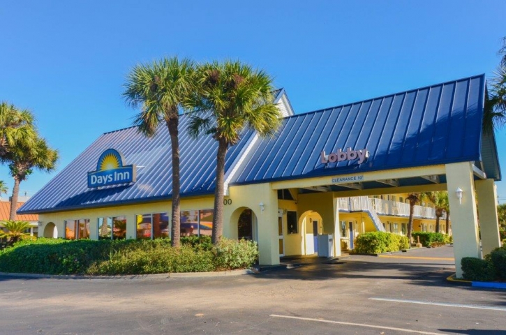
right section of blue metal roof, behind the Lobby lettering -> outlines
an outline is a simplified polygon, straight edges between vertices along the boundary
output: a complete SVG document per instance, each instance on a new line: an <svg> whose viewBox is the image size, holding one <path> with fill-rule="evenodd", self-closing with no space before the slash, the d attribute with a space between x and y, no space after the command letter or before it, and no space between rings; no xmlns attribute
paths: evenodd
<svg viewBox="0 0 506 335"><path fill-rule="evenodd" d="M255 143L235 184L480 161L484 84L477 75L287 117ZM348 147L369 160L320 162Z"/></svg>

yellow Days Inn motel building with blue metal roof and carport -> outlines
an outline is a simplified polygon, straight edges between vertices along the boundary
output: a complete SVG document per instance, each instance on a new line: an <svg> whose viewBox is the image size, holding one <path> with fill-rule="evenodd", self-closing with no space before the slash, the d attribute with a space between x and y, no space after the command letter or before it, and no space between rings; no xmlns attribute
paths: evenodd
<svg viewBox="0 0 506 335"><path fill-rule="evenodd" d="M276 91L276 135L245 129L228 151L224 236L258 241L266 265L320 248L337 256L361 232L403 233L407 193L448 191L456 264L481 257L475 192L483 252L500 243L501 176L495 137L482 132L485 87L476 75L301 114ZM181 232L209 234L217 144L191 139L186 115L179 126ZM165 126L151 139L135 127L105 133L19 213L39 214L45 237L168 237L171 169ZM433 230L430 207L417 211L415 230Z"/></svg>

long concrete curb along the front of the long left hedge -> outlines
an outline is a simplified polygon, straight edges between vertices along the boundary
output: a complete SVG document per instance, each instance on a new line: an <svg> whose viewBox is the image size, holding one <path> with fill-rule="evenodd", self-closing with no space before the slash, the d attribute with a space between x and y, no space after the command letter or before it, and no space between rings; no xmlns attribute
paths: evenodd
<svg viewBox="0 0 506 335"><path fill-rule="evenodd" d="M127 276L74 276L64 274L11 274L0 272L0 276L22 277L22 278L51 278L51 279L116 279L116 280L160 280L169 278L202 278L202 277L223 277L223 276L244 276L246 274L257 274L252 269L239 269L216 272L181 272L174 274L132 274Z"/></svg>

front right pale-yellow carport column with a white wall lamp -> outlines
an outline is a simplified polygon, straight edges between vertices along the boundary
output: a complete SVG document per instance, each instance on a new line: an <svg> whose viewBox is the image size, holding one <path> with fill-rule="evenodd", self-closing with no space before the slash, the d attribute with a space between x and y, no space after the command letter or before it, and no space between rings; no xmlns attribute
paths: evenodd
<svg viewBox="0 0 506 335"><path fill-rule="evenodd" d="M447 191L454 239L455 268L457 278L462 277L461 260L464 257L481 258L479 250L478 219L476 213L475 183L472 163L446 165ZM463 191L462 203L456 197L456 189Z"/></svg>

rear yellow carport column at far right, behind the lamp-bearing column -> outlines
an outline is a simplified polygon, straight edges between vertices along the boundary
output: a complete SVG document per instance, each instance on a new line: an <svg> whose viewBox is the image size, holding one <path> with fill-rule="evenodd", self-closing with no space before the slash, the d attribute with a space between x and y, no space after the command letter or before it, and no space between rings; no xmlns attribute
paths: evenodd
<svg viewBox="0 0 506 335"><path fill-rule="evenodd" d="M479 227L482 232L483 255L487 255L494 248L500 247L496 185L493 184L493 179L486 179L475 181L475 186L478 198Z"/></svg>

